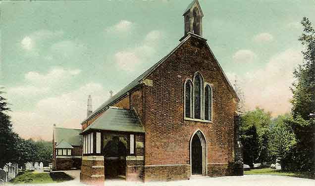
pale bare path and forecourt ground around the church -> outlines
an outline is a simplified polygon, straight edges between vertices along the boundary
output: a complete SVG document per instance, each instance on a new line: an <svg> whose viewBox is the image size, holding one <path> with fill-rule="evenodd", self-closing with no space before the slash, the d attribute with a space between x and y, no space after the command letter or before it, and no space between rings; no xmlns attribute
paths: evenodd
<svg viewBox="0 0 315 186"><path fill-rule="evenodd" d="M79 181L79 171L65 171L76 179L57 184L36 184L33 186L86 186ZM31 186L31 185L23 185ZM286 176L245 175L238 177L193 177L190 180L174 182L136 183L107 180L105 186L315 186L315 180Z"/></svg>

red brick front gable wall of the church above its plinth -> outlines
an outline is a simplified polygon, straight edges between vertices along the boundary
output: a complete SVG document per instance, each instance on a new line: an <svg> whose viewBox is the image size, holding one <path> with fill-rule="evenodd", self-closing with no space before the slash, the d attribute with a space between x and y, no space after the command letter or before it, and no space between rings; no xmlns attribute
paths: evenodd
<svg viewBox="0 0 315 186"><path fill-rule="evenodd" d="M219 69L205 41L190 38L148 77L153 87L143 88L145 165L189 163L190 139L197 129L207 140L208 164L233 161L236 97ZM183 119L184 82L197 71L213 85L212 123Z"/></svg>

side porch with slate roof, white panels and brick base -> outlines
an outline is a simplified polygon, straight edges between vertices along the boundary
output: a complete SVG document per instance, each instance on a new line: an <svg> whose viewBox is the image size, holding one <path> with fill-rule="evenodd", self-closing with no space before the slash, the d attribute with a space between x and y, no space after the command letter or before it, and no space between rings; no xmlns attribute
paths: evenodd
<svg viewBox="0 0 315 186"><path fill-rule="evenodd" d="M83 132L80 181L143 181L144 130L132 111L109 108Z"/></svg>

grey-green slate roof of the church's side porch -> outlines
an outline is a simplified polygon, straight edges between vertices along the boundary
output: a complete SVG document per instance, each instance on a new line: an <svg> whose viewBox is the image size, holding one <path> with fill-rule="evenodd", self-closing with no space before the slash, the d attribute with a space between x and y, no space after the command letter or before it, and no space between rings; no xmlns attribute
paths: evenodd
<svg viewBox="0 0 315 186"><path fill-rule="evenodd" d="M90 130L144 133L138 118L131 110L109 107L81 134Z"/></svg>

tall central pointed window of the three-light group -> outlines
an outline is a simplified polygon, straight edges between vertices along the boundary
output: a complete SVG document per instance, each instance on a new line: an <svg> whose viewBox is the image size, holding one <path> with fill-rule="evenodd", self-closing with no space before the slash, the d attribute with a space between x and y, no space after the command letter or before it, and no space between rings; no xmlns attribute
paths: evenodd
<svg viewBox="0 0 315 186"><path fill-rule="evenodd" d="M194 79L194 93L195 93L195 98L194 98L194 117L195 119L204 119L203 118L203 105L204 105L204 79L203 77L198 73L195 76Z"/></svg>

